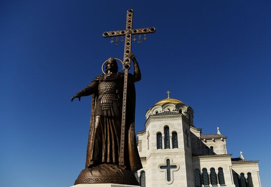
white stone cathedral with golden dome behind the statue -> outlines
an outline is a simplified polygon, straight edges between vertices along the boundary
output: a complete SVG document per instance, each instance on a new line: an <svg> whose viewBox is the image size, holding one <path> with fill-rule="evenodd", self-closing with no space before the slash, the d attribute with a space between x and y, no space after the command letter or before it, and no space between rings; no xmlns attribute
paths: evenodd
<svg viewBox="0 0 271 187"><path fill-rule="evenodd" d="M193 109L168 98L146 112L145 129L137 132L143 168L135 172L141 187L261 187L259 161L232 158L219 127L202 134Z"/></svg>

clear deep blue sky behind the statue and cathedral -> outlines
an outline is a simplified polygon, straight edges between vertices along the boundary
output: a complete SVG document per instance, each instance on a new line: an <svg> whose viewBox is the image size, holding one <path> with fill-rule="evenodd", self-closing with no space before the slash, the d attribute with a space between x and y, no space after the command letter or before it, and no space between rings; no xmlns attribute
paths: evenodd
<svg viewBox="0 0 271 187"><path fill-rule="evenodd" d="M136 131L167 97L194 111L203 134L228 136L228 152L260 160L270 182L271 1L0 0L0 184L68 187L85 164L91 98L70 98L123 58L104 31L154 26L133 43Z"/></svg>

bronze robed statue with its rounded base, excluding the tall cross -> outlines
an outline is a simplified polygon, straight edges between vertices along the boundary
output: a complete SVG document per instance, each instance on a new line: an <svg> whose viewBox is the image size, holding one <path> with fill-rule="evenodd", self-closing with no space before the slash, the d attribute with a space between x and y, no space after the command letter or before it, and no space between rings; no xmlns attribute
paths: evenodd
<svg viewBox="0 0 271 187"><path fill-rule="evenodd" d="M106 61L105 74L95 77L90 85L71 98L71 101L75 98L80 101L81 97L92 95L86 168L75 184L138 185L133 173L142 165L135 140L134 83L141 79L141 73L135 55L129 53L128 56L134 62L134 75L128 74L124 144L121 144L124 73L118 73L114 58ZM120 160L124 163L120 164Z"/></svg>

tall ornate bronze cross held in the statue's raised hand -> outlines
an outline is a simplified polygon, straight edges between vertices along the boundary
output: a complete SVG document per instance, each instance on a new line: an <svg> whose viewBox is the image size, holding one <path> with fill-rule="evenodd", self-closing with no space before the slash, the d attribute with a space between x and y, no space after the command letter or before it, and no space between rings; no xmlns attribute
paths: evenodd
<svg viewBox="0 0 271 187"><path fill-rule="evenodd" d="M125 45L124 45L124 57L123 57L123 69L124 73L124 89L123 89L123 102L122 102L122 122L121 122L121 150L119 155L119 165L124 165L124 145L125 145L125 123L126 123L126 98L127 98L127 85L128 85L128 70L131 67L131 59L129 54L131 53L131 39L132 35L140 34L149 34L154 33L155 28L142 28L142 29L133 29L133 10L127 10L126 16L126 30L122 31L109 31L102 34L103 37L118 37L125 36Z"/></svg>

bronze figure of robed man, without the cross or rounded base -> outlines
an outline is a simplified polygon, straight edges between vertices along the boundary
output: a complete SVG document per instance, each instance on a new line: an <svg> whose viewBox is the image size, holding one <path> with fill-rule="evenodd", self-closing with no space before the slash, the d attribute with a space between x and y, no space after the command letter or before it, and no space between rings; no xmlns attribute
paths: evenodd
<svg viewBox="0 0 271 187"><path fill-rule="evenodd" d="M120 151L124 151L124 166L129 171L142 168L135 140L135 82L141 79L141 73L135 59L134 75L128 75L126 106L126 139L121 149L121 120L124 87L124 73L118 73L118 65L114 58L106 62L105 74L99 75L83 90L71 98L92 95L92 111L87 146L86 167L108 163L119 165Z"/></svg>

